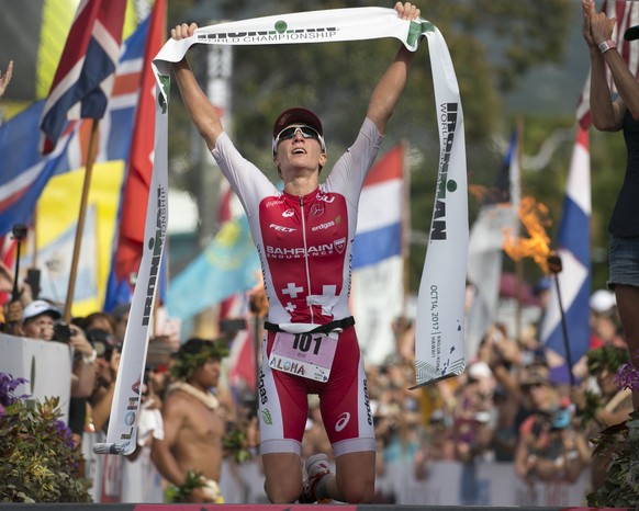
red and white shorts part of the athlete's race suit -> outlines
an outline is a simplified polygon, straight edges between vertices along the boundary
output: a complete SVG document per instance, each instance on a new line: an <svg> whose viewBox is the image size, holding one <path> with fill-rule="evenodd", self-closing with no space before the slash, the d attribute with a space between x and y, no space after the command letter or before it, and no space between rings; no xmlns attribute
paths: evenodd
<svg viewBox="0 0 639 511"><path fill-rule="evenodd" d="M326 383L272 370L268 357L274 336L268 332L262 343L258 381L261 454L301 454L309 394L320 396L322 420L335 456L374 451L373 420L355 328L340 333Z"/></svg>

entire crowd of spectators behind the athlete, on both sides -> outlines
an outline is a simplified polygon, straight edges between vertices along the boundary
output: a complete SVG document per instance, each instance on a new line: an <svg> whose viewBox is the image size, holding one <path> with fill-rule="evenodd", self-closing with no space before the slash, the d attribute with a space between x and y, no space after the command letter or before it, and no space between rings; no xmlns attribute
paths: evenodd
<svg viewBox="0 0 639 511"><path fill-rule="evenodd" d="M415 382L414 323L399 320L396 352L384 364L367 367L378 441L380 485L375 501L395 502L393 490L381 481L388 467L397 462L410 463L417 480L427 480L430 467L438 462L458 462L472 474L479 462L490 461L513 464L517 476L529 485L575 481L585 470L592 473L590 489L602 485L605 459L593 458L590 440L604 427L626 420L632 404L630 391L618 390L614 383L619 366L628 360L614 299L597 292L591 307L592 349L578 364L581 373L578 371L579 378L572 386L552 381L534 327L517 340L497 323L491 327L478 353L469 357L467 371L460 376L410 389ZM68 325L61 321L59 309L44 299L23 305L21 315L15 334L65 342L70 348L74 363L68 425L80 448L87 435L107 432L128 305L110 314L97 311L74 318ZM232 342L232 337L226 340ZM152 339L150 347L139 446L122 470L141 453L145 463L153 464L154 442L162 440L162 402L173 382L169 370L175 357L170 354L177 352L179 343L167 344L166 339L158 338ZM214 393L224 410L226 429L243 431L244 444L235 445L236 450L256 454L256 401L247 399L245 391L228 388L224 372ZM240 395L243 399L234 397ZM310 398L305 434L303 455L330 454L314 396ZM224 455L237 468L242 459L232 451ZM253 459L259 467L259 457ZM83 470L79 476L94 475L89 467L79 470ZM472 486L468 491L472 492ZM467 497L472 502L473 496ZM159 501L162 497L156 492L146 498Z"/></svg>

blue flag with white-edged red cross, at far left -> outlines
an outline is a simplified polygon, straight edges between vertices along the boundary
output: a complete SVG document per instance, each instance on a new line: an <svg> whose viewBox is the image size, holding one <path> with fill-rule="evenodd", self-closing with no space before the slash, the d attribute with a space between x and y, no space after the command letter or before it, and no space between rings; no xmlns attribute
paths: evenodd
<svg viewBox="0 0 639 511"><path fill-rule="evenodd" d="M123 44L109 107L100 122L97 162L127 160L148 20ZM91 123L67 124L55 150L38 152L38 124L44 100L0 126L0 236L14 224L32 223L37 200L48 180L86 164Z"/></svg>

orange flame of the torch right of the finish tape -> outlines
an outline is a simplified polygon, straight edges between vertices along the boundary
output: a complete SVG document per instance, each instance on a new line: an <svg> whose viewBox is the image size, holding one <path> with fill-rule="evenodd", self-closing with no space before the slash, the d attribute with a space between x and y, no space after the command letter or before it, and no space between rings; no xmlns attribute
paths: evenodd
<svg viewBox="0 0 639 511"><path fill-rule="evenodd" d="M546 228L551 225L548 218L548 207L535 202L532 197L523 197L519 204L519 219L528 232L528 238L515 236L514 229L504 229L504 251L514 261L522 258L532 258L543 273L550 273L548 257L554 254L550 249L550 238Z"/></svg>

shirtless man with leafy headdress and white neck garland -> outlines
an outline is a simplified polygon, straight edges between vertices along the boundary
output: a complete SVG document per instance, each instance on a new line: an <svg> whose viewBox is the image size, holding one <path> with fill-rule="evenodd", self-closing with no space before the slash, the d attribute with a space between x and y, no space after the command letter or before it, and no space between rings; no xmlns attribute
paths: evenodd
<svg viewBox="0 0 639 511"><path fill-rule="evenodd" d="M162 406L164 439L154 439L152 459L171 485L173 501L223 502L217 481L226 420L211 390L227 354L220 341L190 339L171 366L173 383Z"/></svg>

